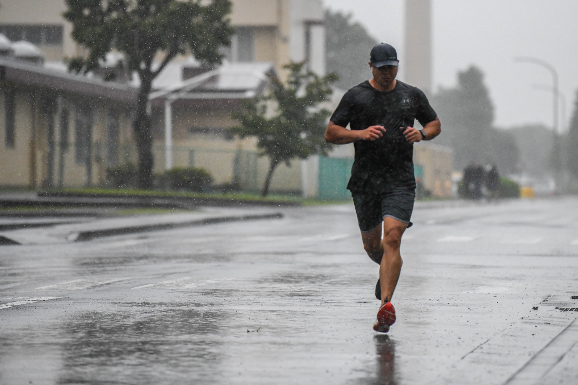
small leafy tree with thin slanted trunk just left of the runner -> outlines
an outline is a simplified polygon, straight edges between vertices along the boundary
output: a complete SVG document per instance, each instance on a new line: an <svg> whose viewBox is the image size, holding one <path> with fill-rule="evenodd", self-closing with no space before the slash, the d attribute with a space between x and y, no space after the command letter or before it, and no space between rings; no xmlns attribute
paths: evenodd
<svg viewBox="0 0 578 385"><path fill-rule="evenodd" d="M233 114L240 123L232 131L241 138L257 138L259 156L269 157L269 171L262 195L269 193L275 168L292 159L305 159L313 154L327 154L331 145L325 142L325 127L329 110L320 103L329 101L331 83L337 75L320 77L306 69L305 62L291 62L284 66L290 71L287 84L272 80L268 95L243 102Z"/></svg>

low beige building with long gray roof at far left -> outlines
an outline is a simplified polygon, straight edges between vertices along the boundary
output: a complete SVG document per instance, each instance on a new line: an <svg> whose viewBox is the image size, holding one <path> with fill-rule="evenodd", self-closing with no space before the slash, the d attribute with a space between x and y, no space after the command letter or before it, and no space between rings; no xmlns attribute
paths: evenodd
<svg viewBox="0 0 578 385"><path fill-rule="evenodd" d="M101 184L132 142L136 90L0 57L0 186Z"/></svg>

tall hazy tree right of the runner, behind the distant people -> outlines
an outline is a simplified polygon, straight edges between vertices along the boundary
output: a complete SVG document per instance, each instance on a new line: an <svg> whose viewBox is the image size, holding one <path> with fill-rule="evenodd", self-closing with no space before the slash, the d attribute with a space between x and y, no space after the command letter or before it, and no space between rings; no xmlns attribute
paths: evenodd
<svg viewBox="0 0 578 385"><path fill-rule="evenodd" d="M494 163L501 173L518 166L516 140L507 131L495 129L494 106L484 84L484 74L476 66L458 72L458 86L442 88L432 105L443 124L439 143L453 147L455 166Z"/></svg>

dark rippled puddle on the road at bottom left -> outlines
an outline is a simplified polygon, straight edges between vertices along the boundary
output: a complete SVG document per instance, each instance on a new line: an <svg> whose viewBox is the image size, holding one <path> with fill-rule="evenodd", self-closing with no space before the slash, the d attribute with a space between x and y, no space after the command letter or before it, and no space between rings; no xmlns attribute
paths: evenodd
<svg viewBox="0 0 578 385"><path fill-rule="evenodd" d="M58 383L208 380L208 373L220 372L224 359L219 336L226 318L219 310L191 309L190 304L83 313L62 324Z"/></svg>

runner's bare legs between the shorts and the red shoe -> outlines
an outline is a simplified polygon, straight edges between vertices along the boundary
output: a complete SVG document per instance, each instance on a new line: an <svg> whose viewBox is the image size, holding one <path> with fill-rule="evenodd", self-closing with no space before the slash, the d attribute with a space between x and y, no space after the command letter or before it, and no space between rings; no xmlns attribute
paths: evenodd
<svg viewBox="0 0 578 385"><path fill-rule="evenodd" d="M391 301L399 280L399 273L403 264L399 246L406 228L406 223L385 217L383 220L383 240L381 239L381 224L368 232L361 233L361 239L369 258L380 264L381 305L385 303L386 298Z"/></svg>

